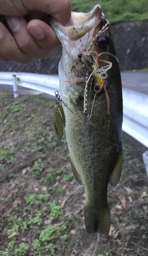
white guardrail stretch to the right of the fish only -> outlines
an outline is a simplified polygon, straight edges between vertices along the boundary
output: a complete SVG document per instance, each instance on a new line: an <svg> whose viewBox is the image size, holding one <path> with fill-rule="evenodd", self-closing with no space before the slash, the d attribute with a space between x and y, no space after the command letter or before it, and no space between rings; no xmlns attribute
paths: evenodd
<svg viewBox="0 0 148 256"><path fill-rule="evenodd" d="M148 147L148 95L123 89L122 130Z"/></svg>

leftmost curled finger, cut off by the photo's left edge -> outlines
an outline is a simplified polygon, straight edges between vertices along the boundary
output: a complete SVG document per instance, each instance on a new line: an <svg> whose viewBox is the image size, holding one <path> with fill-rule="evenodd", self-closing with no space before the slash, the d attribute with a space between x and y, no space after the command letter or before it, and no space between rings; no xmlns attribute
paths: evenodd
<svg viewBox="0 0 148 256"><path fill-rule="evenodd" d="M0 53L7 60L14 60L21 63L28 63L32 60L20 51L16 41L8 29L0 22Z"/></svg>

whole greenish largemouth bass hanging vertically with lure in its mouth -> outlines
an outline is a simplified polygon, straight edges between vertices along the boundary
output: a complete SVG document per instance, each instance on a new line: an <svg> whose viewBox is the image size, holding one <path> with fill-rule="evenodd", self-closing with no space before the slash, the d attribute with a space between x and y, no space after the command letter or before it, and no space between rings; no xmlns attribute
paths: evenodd
<svg viewBox="0 0 148 256"><path fill-rule="evenodd" d="M62 44L55 129L60 141L65 127L72 174L85 189L86 230L108 235L108 185L118 184L122 169L120 70L100 5L71 17L72 26L49 19Z"/></svg>

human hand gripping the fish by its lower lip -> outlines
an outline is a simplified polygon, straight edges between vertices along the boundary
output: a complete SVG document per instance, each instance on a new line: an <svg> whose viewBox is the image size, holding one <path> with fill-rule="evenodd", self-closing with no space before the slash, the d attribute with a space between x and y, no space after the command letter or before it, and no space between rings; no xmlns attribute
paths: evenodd
<svg viewBox="0 0 148 256"><path fill-rule="evenodd" d="M47 14L65 25L71 0L1 0L0 59L28 63L34 57L47 58L60 45L46 24Z"/></svg>

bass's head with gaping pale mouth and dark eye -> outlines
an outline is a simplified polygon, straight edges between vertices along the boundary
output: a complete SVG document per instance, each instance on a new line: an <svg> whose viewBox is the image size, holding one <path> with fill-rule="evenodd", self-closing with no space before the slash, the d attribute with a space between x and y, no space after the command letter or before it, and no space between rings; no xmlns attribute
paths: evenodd
<svg viewBox="0 0 148 256"><path fill-rule="evenodd" d="M115 55L113 38L109 22L105 18L100 5L95 5L88 13L72 12L73 25L62 26L54 18L50 18L50 25L63 46L63 68L66 77L77 80L84 79L85 71L91 71L92 55L85 52L95 51L97 54L110 52ZM96 56L94 58L97 61ZM102 55L103 59L112 59L109 55ZM100 62L103 66L104 63ZM68 78L67 77L67 78Z"/></svg>

